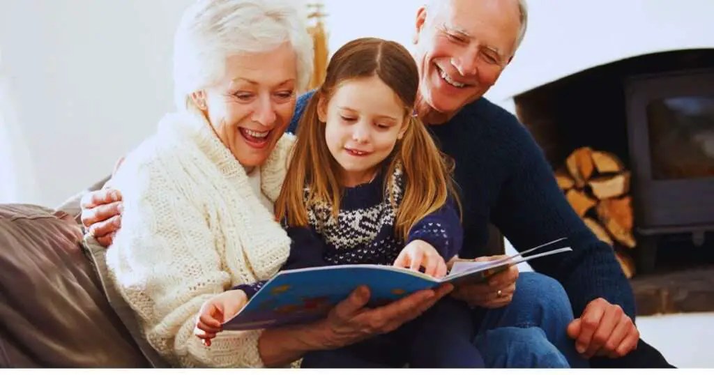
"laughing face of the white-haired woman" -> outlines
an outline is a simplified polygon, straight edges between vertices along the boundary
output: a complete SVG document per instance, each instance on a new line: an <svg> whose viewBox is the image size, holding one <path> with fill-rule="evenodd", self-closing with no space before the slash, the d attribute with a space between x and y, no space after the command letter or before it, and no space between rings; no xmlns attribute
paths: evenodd
<svg viewBox="0 0 714 375"><path fill-rule="evenodd" d="M290 44L226 59L226 74L192 94L221 142L246 169L263 164L295 110L297 61Z"/></svg>

